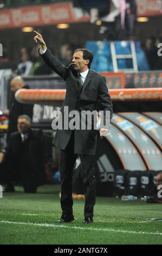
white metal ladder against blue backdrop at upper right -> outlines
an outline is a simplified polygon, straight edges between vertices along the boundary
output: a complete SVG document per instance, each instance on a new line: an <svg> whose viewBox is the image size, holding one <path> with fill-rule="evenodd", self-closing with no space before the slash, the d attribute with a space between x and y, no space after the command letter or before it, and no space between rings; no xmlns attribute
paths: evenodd
<svg viewBox="0 0 162 256"><path fill-rule="evenodd" d="M138 71L134 41L131 40L129 42L130 42L130 45L131 45L131 54L116 54L114 41L110 42L114 72L118 72L118 71ZM118 69L118 62L117 62L118 59L132 59L133 68L131 68L131 69L129 69L129 68L127 68L127 69Z"/></svg>

